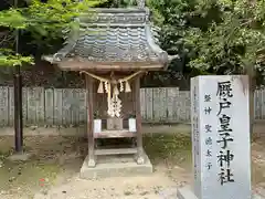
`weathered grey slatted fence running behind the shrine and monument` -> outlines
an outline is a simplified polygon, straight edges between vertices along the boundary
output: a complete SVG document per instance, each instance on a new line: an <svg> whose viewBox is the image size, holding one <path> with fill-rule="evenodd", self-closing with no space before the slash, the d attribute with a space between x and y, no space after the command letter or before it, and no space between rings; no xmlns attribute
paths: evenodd
<svg viewBox="0 0 265 199"><path fill-rule="evenodd" d="M85 90L23 88L25 125L80 125L86 123ZM146 123L190 123L190 92L178 87L141 88ZM265 121L265 90L255 92L255 118ZM0 87L0 124L13 126L13 87Z"/></svg>

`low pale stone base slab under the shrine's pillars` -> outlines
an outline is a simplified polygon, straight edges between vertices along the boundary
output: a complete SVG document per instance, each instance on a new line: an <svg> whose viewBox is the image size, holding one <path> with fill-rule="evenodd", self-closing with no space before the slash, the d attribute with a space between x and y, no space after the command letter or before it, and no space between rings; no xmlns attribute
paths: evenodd
<svg viewBox="0 0 265 199"><path fill-rule="evenodd" d="M80 176L83 179L97 179L108 177L127 177L152 174L152 165L145 154L145 164L138 165L132 155L98 156L96 166L89 168L86 157L81 168Z"/></svg>

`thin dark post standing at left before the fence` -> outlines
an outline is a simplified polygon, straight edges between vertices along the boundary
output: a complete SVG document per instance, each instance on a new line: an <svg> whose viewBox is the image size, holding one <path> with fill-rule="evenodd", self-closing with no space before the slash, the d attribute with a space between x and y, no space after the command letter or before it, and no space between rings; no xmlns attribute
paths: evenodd
<svg viewBox="0 0 265 199"><path fill-rule="evenodd" d="M14 0L18 8L18 0ZM15 53L19 53L19 30L15 30ZM14 71L14 146L17 153L23 151L22 77L20 65Z"/></svg>

